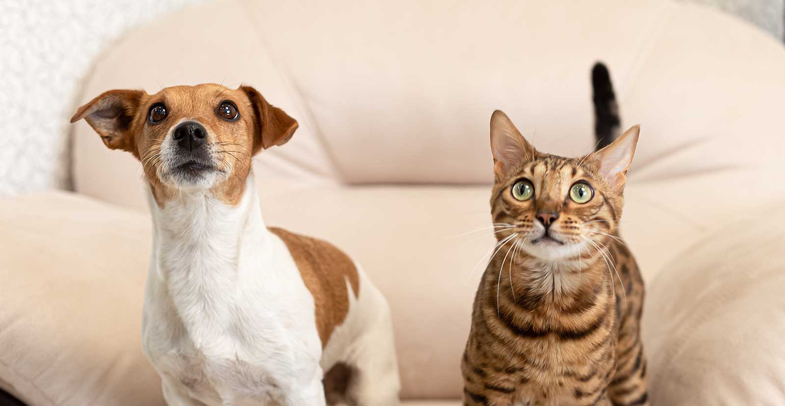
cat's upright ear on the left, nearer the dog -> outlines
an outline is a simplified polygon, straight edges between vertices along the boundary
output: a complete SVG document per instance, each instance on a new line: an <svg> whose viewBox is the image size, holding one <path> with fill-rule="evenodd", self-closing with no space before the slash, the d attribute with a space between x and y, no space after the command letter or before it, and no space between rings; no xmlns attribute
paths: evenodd
<svg viewBox="0 0 785 406"><path fill-rule="evenodd" d="M538 154L501 110L496 110L491 115L491 153L497 179L504 177L521 163L534 159Z"/></svg>

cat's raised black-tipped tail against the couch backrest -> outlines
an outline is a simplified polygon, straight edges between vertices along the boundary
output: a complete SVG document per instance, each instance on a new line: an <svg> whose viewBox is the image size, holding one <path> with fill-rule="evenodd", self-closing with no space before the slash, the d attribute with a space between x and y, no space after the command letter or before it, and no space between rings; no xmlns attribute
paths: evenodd
<svg viewBox="0 0 785 406"><path fill-rule="evenodd" d="M621 135L619 104L613 93L613 84L608 68L602 62L594 64L591 70L591 83L594 101L594 135L597 137L599 151L607 147Z"/></svg>

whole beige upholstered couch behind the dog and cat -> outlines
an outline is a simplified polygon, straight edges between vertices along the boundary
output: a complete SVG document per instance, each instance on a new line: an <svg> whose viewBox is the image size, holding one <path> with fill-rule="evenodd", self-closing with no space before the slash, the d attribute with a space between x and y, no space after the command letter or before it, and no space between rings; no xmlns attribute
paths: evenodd
<svg viewBox="0 0 785 406"><path fill-rule="evenodd" d="M75 106L246 82L296 117L254 166L265 220L360 260L392 304L404 404L447 406L493 242L457 236L489 221L490 114L547 152L588 152L604 60L623 121L643 125L622 226L648 282L652 404L785 404L785 50L697 6L578 3L203 5L126 35ZM162 405L140 349L141 170L74 130L75 193L0 200L0 388Z"/></svg>

